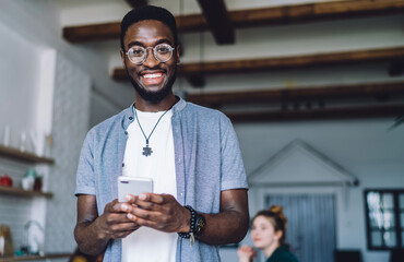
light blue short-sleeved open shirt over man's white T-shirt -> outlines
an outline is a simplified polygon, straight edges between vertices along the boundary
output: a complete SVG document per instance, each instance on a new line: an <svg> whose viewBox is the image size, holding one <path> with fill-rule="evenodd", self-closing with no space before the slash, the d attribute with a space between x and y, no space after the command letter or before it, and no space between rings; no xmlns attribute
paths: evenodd
<svg viewBox="0 0 404 262"><path fill-rule="evenodd" d="M118 198L131 107L88 131L80 156L75 194L96 195L98 214ZM247 189L246 172L231 122L222 112L180 99L173 107L177 200L201 213L218 213L221 192ZM207 225L209 226L209 225ZM177 261L221 261L218 249L178 238ZM104 261L121 261L121 240L111 240Z"/></svg>

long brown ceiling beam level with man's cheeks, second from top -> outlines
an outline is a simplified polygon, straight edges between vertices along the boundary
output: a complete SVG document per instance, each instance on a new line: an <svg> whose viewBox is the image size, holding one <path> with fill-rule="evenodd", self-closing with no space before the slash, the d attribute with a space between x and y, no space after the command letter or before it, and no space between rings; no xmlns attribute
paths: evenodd
<svg viewBox="0 0 404 262"><path fill-rule="evenodd" d="M276 69L296 69L318 66L350 64L371 61L389 61L404 58L404 47L368 49L331 53L313 53L294 57L229 60L204 63L186 63L178 68L178 75L200 76L209 74L233 74L262 72ZM127 80L124 69L117 68L112 72L112 79L118 81Z"/></svg>

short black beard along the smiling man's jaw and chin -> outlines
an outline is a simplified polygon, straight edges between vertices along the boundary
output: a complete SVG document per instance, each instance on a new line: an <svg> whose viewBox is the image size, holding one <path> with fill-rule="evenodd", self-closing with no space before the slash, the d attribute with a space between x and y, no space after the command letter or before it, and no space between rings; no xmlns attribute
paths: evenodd
<svg viewBox="0 0 404 262"><path fill-rule="evenodd" d="M174 74L173 74L173 76L170 76L168 79L167 84L165 86L163 86L163 88L157 91L157 92L151 92L151 91L147 91L147 90L143 88L142 86L140 86L134 81L134 79L129 74L128 67L126 67L126 69L127 69L128 78L129 78L131 84L133 85L134 90L138 92L138 94L144 100L147 100L152 104L157 104L157 103L162 102L164 98L166 98L168 96L168 94L173 91L173 85L174 85L174 82L176 81L176 76L177 76L177 68L175 68L174 69Z"/></svg>

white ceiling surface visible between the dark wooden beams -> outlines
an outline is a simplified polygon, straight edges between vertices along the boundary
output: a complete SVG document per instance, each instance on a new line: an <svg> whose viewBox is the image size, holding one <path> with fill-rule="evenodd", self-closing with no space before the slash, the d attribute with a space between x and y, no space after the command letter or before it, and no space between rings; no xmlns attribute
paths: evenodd
<svg viewBox="0 0 404 262"><path fill-rule="evenodd" d="M120 22L131 9L124 0L35 1L48 3L59 14L60 35L63 26ZM330 1L336 0L225 0L225 4L230 11ZM147 2L164 7L175 15L201 12L197 0L148 0ZM193 33L182 36L181 44L185 55L181 57L181 62L383 48L402 46L403 40L402 15L236 29L236 44L230 46L218 46L210 32ZM108 71L103 73L108 78L112 69L121 67L119 39L74 44L73 47L102 57L108 68ZM369 71L369 68L377 73ZM369 72L371 73L369 74ZM319 68L317 71L213 75L206 78L206 86L202 91L192 88L186 80L177 80L175 88L185 88L187 92L231 91L280 86L295 87L310 84L360 83L366 80L385 81L388 75L380 71L379 66L370 64L368 68L338 68L336 71ZM104 82L108 82L108 84L98 81L98 84L93 87L103 93L104 98L108 98L114 105L121 105L123 108L133 99L132 95L129 95L133 93L129 83L115 83L109 80Z"/></svg>

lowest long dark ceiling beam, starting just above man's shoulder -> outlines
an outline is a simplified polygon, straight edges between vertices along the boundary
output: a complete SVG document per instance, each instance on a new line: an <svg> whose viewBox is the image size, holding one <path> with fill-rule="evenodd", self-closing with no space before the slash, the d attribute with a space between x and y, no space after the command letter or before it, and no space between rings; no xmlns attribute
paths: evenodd
<svg viewBox="0 0 404 262"><path fill-rule="evenodd" d="M285 122L341 119L390 118L404 115L404 106L345 107L296 111L225 112L233 122Z"/></svg>

